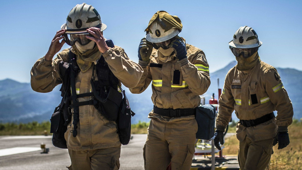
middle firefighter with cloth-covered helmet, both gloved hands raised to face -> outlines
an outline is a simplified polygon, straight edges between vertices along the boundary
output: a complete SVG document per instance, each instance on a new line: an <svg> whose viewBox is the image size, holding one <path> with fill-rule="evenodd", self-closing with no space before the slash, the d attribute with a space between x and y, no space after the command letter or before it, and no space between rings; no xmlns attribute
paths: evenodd
<svg viewBox="0 0 302 170"><path fill-rule="evenodd" d="M147 170L190 169L197 132L195 108L210 86L204 52L179 37L181 20L165 11L149 21L138 47L143 75L132 93L142 93L152 82L154 104L143 148Z"/></svg>

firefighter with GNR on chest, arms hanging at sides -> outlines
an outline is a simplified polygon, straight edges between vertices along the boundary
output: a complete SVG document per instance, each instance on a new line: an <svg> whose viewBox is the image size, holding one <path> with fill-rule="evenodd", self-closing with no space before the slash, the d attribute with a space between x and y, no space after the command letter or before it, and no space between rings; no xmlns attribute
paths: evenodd
<svg viewBox="0 0 302 170"><path fill-rule="evenodd" d="M232 112L240 120L236 135L239 140L240 169L265 169L273 153L289 144L288 126L292 123L293 106L277 70L260 60L262 42L253 28L240 27L229 43L237 65L228 71L219 99L214 143L223 144L223 133ZM277 110L277 117L273 111Z"/></svg>

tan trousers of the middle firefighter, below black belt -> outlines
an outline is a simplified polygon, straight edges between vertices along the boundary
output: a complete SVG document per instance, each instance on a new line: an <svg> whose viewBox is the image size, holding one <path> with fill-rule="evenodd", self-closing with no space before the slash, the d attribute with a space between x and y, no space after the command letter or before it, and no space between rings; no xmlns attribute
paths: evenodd
<svg viewBox="0 0 302 170"><path fill-rule="evenodd" d="M195 152L197 132L195 119L164 122L153 117L143 148L146 170L189 170Z"/></svg>

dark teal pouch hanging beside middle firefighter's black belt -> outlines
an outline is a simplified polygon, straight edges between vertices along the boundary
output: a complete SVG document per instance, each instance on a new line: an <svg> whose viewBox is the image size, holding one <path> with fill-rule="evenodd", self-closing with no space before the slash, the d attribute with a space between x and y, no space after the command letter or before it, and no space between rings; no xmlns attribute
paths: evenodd
<svg viewBox="0 0 302 170"><path fill-rule="evenodd" d="M195 119L198 124L196 139L210 140L214 136L216 108L213 105L202 105L196 108Z"/></svg>

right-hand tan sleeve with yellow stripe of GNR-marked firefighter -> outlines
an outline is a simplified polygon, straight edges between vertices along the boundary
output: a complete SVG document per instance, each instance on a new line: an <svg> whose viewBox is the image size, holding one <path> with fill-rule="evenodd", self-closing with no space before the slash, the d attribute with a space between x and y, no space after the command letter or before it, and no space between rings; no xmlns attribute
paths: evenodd
<svg viewBox="0 0 302 170"><path fill-rule="evenodd" d="M266 93L277 110L277 125L289 126L293 122L293 105L277 70L271 67L265 72L265 79Z"/></svg>

